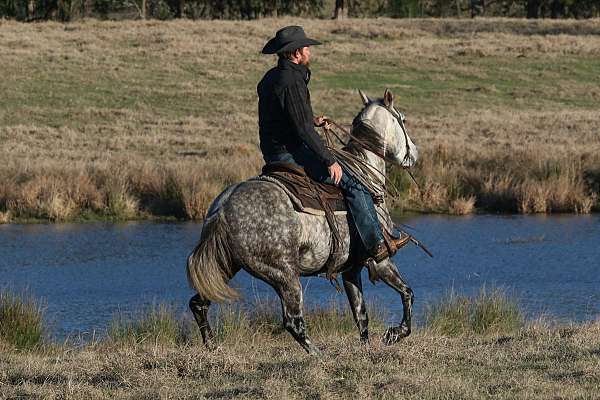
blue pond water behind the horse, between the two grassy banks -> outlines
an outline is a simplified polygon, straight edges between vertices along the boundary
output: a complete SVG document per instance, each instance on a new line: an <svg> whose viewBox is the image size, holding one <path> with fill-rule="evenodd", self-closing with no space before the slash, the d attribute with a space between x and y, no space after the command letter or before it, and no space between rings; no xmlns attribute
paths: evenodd
<svg viewBox="0 0 600 400"><path fill-rule="evenodd" d="M395 260L415 292L415 318L446 291L473 295L500 286L529 318L585 321L600 313L599 216L419 216L402 222L434 253L416 246ZM185 260L201 225L149 222L0 225L0 287L44 300L55 337L102 335L116 314L156 303L185 312L193 291ZM402 304L365 271L367 301L396 319ZM310 305L345 302L322 278L303 280ZM245 301L276 299L245 272L232 281Z"/></svg>

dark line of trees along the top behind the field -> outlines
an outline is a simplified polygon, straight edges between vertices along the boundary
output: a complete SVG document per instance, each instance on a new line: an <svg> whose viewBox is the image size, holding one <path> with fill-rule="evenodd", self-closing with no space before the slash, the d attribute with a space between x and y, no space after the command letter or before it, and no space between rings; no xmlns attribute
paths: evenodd
<svg viewBox="0 0 600 400"><path fill-rule="evenodd" d="M0 0L0 18L600 17L600 0Z"/></svg>

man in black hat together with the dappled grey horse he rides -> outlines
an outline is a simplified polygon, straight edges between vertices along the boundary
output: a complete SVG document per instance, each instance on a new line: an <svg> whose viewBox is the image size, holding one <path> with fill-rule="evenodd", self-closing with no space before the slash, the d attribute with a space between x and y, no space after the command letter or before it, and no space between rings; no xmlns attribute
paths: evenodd
<svg viewBox="0 0 600 400"><path fill-rule="evenodd" d="M392 344L411 332L413 293L389 257L410 236L390 239L393 222L383 193L386 162L410 168L417 161L418 149L394 106L394 95L386 90L383 98L373 100L360 92L363 107L354 118L345 149L328 150L315 132L315 124L327 120L314 118L307 88L309 46L315 44L302 28L293 26L277 32L263 49L263 53L280 54L277 66L258 85L260 145L267 162L263 175L265 169L277 170L284 167L281 162L287 162L292 165L287 171L296 169L294 179L314 188L316 184L298 171L302 166L314 180L340 186L351 216L331 215L330 203L323 201L323 193L332 188L328 185L317 195L320 204L325 204L325 218L298 211L287 186L281 180L274 182L270 172L225 188L211 203L200 241L187 262L188 280L197 292L189 305L208 347L214 345L209 308L212 302L239 298L229 282L242 270L275 290L281 300L283 326L310 354L320 350L312 343L304 320L302 276L341 273L360 339L367 341L369 318L361 277L366 264L371 281L383 281L402 299L402 320L386 329L383 341ZM367 170L379 175L369 175Z"/></svg>

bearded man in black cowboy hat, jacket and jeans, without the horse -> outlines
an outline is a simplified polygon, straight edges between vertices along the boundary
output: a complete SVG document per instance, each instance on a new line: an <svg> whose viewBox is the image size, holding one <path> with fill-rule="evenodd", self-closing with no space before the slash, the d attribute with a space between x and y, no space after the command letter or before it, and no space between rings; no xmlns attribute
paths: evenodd
<svg viewBox="0 0 600 400"><path fill-rule="evenodd" d="M339 185L367 254L365 260L370 257L378 263L405 240L391 238L386 245L371 193L342 169L315 131L316 126L328 126L325 117L314 117L308 90L309 46L320 44L307 38L302 27L287 26L264 46L263 54L277 54L279 60L257 87L260 149L267 164L296 164L315 181Z"/></svg>

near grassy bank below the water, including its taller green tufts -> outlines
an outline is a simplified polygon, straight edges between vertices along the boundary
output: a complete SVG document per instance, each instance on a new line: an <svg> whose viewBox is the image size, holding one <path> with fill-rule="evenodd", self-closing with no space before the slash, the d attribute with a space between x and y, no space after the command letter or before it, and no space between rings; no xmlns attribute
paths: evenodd
<svg viewBox="0 0 600 400"><path fill-rule="evenodd" d="M360 345L347 311L312 310L320 358L282 330L275 306L258 315L224 309L214 351L189 318L162 306L87 344L18 350L0 336L0 399L597 398L600 321L524 323L494 296L434 305L430 323L393 346L379 341L376 314L371 343Z"/></svg>

